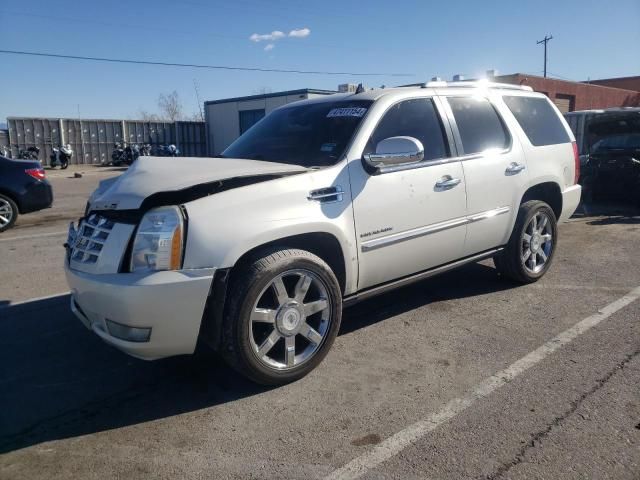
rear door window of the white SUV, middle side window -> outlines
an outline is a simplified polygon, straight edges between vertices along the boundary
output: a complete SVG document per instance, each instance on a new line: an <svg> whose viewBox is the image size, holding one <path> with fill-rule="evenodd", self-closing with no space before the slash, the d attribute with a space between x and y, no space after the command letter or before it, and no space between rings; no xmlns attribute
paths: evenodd
<svg viewBox="0 0 640 480"><path fill-rule="evenodd" d="M509 146L509 134L491 102L484 97L447 98L458 125L465 155Z"/></svg>

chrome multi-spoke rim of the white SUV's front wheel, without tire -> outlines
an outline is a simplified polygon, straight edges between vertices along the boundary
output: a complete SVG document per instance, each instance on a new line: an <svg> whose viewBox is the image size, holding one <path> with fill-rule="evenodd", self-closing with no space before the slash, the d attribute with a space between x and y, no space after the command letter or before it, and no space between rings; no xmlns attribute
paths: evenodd
<svg viewBox="0 0 640 480"><path fill-rule="evenodd" d="M287 370L312 358L332 322L325 283L308 270L289 270L275 277L251 310L249 340L265 366Z"/></svg>

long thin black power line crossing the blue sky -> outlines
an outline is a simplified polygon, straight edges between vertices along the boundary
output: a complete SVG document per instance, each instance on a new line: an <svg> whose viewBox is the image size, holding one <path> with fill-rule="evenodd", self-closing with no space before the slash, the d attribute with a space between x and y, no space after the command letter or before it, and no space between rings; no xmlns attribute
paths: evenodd
<svg viewBox="0 0 640 480"><path fill-rule="evenodd" d="M84 57L81 55L62 55L57 53L26 52L19 50L0 50L10 55L27 55L33 57L62 58L67 60L86 60L91 62L129 63L135 65L156 65L162 67L205 68L211 70L241 70L246 72L299 73L307 75L351 75L360 77L414 77L413 73L380 73L380 72L328 72L322 70L288 70L280 68L235 67L229 65L203 65L197 63L153 62L150 60L127 60L122 58Z"/></svg>

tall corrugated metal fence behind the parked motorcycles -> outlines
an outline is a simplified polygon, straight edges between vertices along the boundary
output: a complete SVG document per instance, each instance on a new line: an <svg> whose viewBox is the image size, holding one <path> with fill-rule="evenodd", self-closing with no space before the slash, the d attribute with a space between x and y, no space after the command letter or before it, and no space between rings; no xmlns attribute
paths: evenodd
<svg viewBox="0 0 640 480"><path fill-rule="evenodd" d="M150 143L153 146L173 143L183 156L206 156L204 122L10 117L8 124L8 145L13 158L19 150L37 146L40 161L48 163L53 147L64 143L73 149L71 163L108 163L116 142Z"/></svg>

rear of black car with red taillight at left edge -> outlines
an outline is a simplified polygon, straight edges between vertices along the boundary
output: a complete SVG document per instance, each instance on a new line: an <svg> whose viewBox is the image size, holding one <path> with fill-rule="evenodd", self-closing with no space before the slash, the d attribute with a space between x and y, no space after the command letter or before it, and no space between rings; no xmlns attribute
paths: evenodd
<svg viewBox="0 0 640 480"><path fill-rule="evenodd" d="M53 190L37 160L0 156L0 232L13 226L18 214L48 208Z"/></svg>

